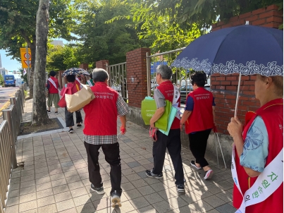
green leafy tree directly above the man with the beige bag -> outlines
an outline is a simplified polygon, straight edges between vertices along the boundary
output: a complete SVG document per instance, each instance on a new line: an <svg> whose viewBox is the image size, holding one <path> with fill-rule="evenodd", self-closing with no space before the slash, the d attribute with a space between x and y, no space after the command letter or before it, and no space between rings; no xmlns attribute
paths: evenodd
<svg viewBox="0 0 284 213"><path fill-rule="evenodd" d="M77 25L73 32L80 37L78 45L79 61L92 67L101 59L111 64L125 61L125 54L142 47L132 20L118 20L106 23L116 16L129 13L128 5L121 0L87 1L76 0Z"/></svg>

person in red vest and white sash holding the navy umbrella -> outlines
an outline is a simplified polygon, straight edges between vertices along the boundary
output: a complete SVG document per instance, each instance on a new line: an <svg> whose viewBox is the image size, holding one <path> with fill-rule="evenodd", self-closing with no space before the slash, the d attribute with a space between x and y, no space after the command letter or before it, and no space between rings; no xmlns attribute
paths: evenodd
<svg viewBox="0 0 284 213"><path fill-rule="evenodd" d="M254 186L257 178L265 172L266 166L273 162L283 149L283 76L257 75L254 93L261 107L250 118L245 128L237 117L231 118L228 124L228 132L235 145L235 178L238 179L242 191L241 194L234 184L233 205L236 208L240 208L245 202L242 195ZM283 164L280 167L283 173ZM266 181L264 187L260 185L261 190L259 188L251 197L246 196L245 200L261 195L263 190L267 190L266 186L272 184L275 179L268 176ZM280 186L264 201L245 207L246 212L283 212L283 180L280 181Z"/></svg>

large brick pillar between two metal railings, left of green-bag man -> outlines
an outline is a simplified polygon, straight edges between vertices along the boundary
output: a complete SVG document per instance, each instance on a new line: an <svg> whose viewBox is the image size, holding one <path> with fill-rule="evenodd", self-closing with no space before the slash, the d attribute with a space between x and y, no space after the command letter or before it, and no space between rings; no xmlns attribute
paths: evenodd
<svg viewBox="0 0 284 213"><path fill-rule="evenodd" d="M128 51L126 54L128 105L141 107L141 102L147 96L147 60L149 48L140 48Z"/></svg>

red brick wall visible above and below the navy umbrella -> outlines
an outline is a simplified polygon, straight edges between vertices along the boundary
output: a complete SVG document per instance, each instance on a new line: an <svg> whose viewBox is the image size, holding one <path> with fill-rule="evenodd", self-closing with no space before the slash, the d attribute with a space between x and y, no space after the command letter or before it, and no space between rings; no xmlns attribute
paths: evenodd
<svg viewBox="0 0 284 213"><path fill-rule="evenodd" d="M256 11L230 18L228 23L219 22L212 26L212 31L244 25L249 20L250 25L261 25L268 28L278 28L283 23L283 10L278 11L278 6L272 5ZM240 99L237 107L237 117L244 123L247 111L256 111L259 101L254 96L254 80L256 75L243 75L240 86ZM216 123L220 133L228 135L228 123L235 113L235 101L239 74L211 75L211 90L216 102Z"/></svg>

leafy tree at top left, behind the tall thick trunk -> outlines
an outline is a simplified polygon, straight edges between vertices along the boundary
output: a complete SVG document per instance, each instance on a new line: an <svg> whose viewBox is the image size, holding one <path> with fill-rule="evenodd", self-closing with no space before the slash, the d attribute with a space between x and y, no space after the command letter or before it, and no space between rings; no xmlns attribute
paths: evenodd
<svg viewBox="0 0 284 213"><path fill-rule="evenodd" d="M71 0L49 1L49 36L71 39L70 26L73 25ZM33 73L36 51L36 14L38 0L0 1L0 49L6 49L8 55L20 59L19 48L26 44L32 51L30 73L30 95L33 94Z"/></svg>

